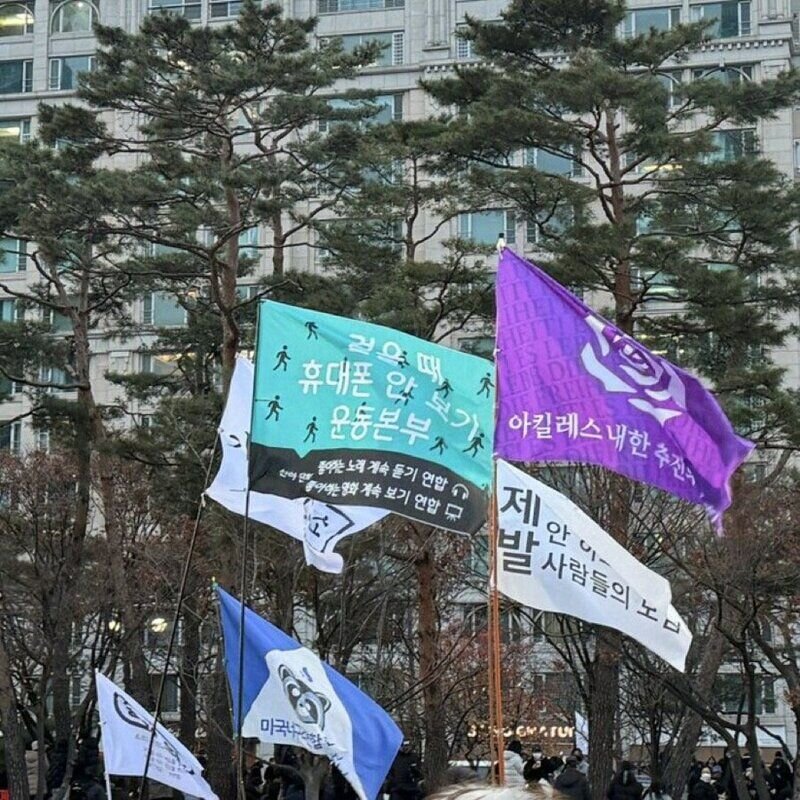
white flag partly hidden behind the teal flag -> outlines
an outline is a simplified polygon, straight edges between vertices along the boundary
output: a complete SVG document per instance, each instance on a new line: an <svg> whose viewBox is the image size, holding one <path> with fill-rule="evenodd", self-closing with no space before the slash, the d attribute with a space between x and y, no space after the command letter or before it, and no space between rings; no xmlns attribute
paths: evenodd
<svg viewBox="0 0 800 800"><path fill-rule="evenodd" d="M219 437L222 463L206 494L228 511L244 516L247 505L247 435L255 375L252 362L236 359ZM289 500L274 494L250 492L248 516L303 542L306 563L323 572L341 572L344 560L334 551L337 542L378 522L387 511L365 506L334 506L310 498Z"/></svg>

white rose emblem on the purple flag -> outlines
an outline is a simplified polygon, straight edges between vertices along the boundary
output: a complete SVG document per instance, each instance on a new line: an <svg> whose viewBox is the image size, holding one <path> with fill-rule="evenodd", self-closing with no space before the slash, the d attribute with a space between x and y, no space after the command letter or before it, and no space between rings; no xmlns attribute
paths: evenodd
<svg viewBox="0 0 800 800"><path fill-rule="evenodd" d="M588 314L595 342L584 345L581 361L607 392L624 392L628 402L663 425L686 410L686 388L672 365L656 359L638 342Z"/></svg>

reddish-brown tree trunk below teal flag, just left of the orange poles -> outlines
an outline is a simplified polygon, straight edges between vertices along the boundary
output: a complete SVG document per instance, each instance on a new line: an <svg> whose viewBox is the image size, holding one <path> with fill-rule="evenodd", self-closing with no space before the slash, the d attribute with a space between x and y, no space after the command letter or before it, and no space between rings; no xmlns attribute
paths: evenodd
<svg viewBox="0 0 800 800"><path fill-rule="evenodd" d="M447 769L447 731L443 713L439 642L439 590L435 554L431 543L431 528L412 526L418 547L415 567L417 571L417 599L419 603L419 681L422 684L422 704L425 727L425 750L422 758L422 775L425 792L435 792L442 784Z"/></svg>

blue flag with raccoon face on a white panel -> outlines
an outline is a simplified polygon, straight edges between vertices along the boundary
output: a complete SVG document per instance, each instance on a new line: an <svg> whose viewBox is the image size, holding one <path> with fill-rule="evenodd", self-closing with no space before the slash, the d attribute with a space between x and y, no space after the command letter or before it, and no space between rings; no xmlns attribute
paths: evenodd
<svg viewBox="0 0 800 800"><path fill-rule="evenodd" d="M234 730L262 742L327 756L361 800L374 800L403 734L350 681L283 631L245 609L244 686L239 708L241 603L217 587Z"/></svg>

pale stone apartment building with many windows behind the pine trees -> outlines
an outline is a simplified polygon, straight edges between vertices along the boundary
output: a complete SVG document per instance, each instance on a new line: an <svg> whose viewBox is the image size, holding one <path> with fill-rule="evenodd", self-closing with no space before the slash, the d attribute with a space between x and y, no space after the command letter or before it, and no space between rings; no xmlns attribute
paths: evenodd
<svg viewBox="0 0 800 800"><path fill-rule="evenodd" d="M457 38L465 15L492 20L499 17L505 0L283 0L285 13L297 17L318 16L317 37L340 36L345 47L377 40L386 45L376 63L364 70L358 83L378 92L380 118L421 119L437 111L419 88L422 78L435 79L455 64L473 59L470 43ZM36 135L36 108L40 102L59 103L73 97L77 76L92 68L96 41L92 24L133 31L146 14L164 10L182 14L198 25L229 21L238 13L235 0L0 0L0 136L26 140ZM668 29L679 23L715 18L713 38L686 63L664 74L668 87L711 74L721 81L758 81L785 69L794 59L798 44L796 9L800 0L630 0L620 35L633 35L651 27ZM557 63L557 57L555 57ZM117 125L126 120L117 118ZM787 175L800 170L800 108L786 109L758 129L720 134L722 157L736 157L741 148L757 141L761 151ZM571 166L552 154L532 154L544 170L571 174ZM580 175L572 175L582 180ZM456 235L493 244L498 231L518 250L537 253L537 230L503 210L463 214L445 226L440 235L425 243L419 257L436 259L442 242ZM254 230L244 244L261 242L264 231ZM310 247L290 248L287 268L322 269ZM265 258L266 261L266 258ZM25 244L0 240L0 283L21 286L30 279ZM262 267L264 269L265 267ZM256 276L258 272L256 272ZM252 280L252 279L251 279ZM657 307L653 310L657 311ZM0 319L14 319L15 303L0 291ZM104 385L108 372L149 370L152 356L137 352L148 332L158 326L180 325L182 312L158 294L143 297L133 309L141 323L141 337L115 343L96 340L94 378L101 401L111 401L117 391ZM57 321L54 321L57 327ZM456 342L456 344L459 344ZM461 344L464 344L463 342ZM474 343L473 343L474 344ZM792 385L800 386L800 348L796 342L775 354L788 370ZM45 379L55 376L42 376ZM34 433L26 421L8 423L25 409L20 387L11 387L11 398L0 403L0 448L21 451L47 448L46 432ZM133 409L136 411L136 409ZM4 424L4 421L5 424ZM464 597L465 614L479 596ZM472 605L472 608L475 608ZM515 635L509 628L509 635ZM765 681L761 721L796 747L791 714L777 684ZM731 708L735 711L735 708Z"/></svg>

